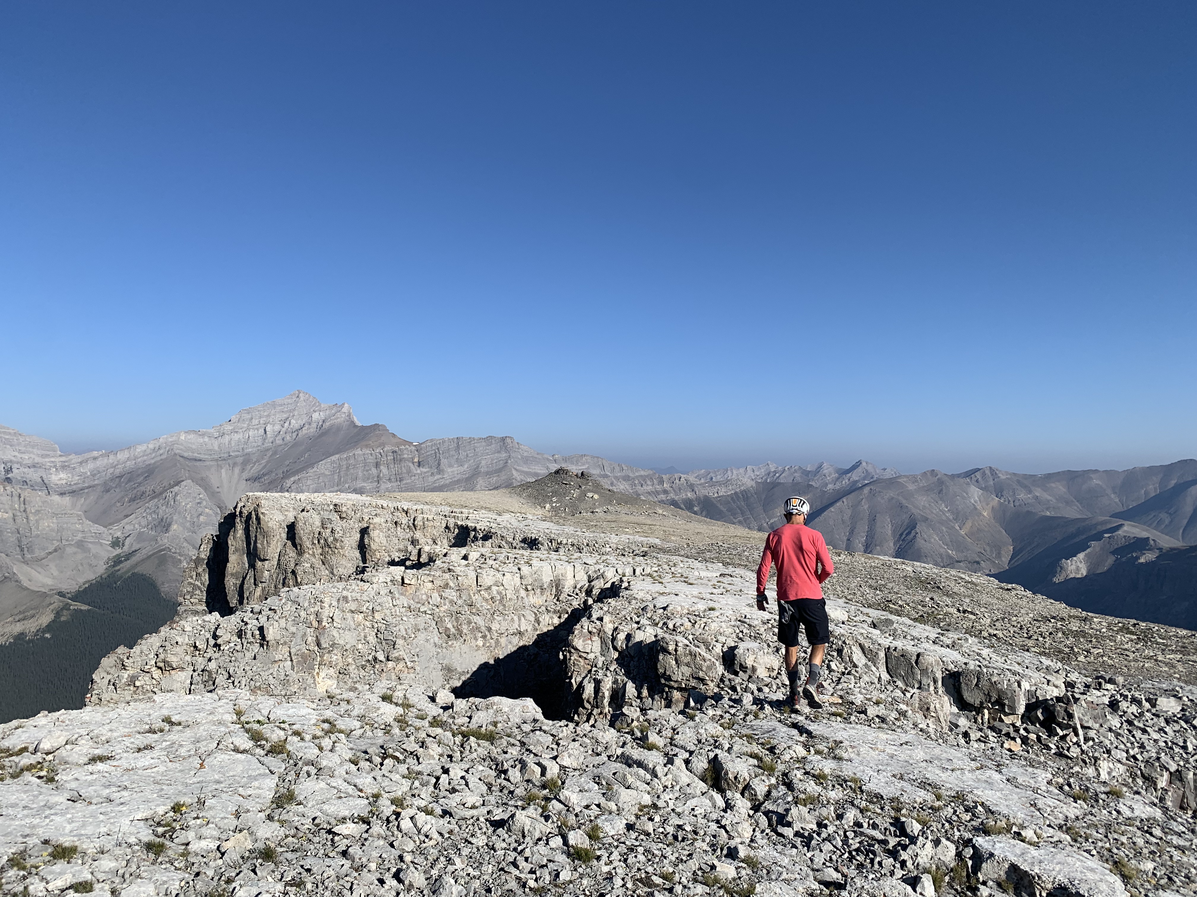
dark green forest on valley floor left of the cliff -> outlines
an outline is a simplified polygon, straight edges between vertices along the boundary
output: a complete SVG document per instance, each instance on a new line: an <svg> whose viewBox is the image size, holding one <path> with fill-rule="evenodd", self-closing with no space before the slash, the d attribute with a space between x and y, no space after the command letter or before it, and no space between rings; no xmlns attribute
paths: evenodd
<svg viewBox="0 0 1197 897"><path fill-rule="evenodd" d="M142 573L101 576L67 597L90 610L0 645L0 722L83 707L101 659L162 628L177 609Z"/></svg>

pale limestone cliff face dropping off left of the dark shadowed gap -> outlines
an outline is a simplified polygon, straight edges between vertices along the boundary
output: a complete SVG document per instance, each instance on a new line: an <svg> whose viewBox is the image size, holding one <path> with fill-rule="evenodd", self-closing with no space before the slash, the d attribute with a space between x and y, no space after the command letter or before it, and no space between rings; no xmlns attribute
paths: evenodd
<svg viewBox="0 0 1197 897"><path fill-rule="evenodd" d="M92 702L230 687L321 694L378 679L494 685L506 673L486 665L522 648L522 663L549 677L565 637L552 630L634 574L627 556L616 566L601 554L615 547L643 551L637 539L540 520L250 494L188 568L188 612L109 655Z"/></svg>

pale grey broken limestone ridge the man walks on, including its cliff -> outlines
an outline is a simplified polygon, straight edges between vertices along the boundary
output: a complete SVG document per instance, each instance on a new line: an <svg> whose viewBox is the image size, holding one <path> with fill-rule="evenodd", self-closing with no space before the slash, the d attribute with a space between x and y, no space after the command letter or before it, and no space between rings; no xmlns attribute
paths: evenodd
<svg viewBox="0 0 1197 897"><path fill-rule="evenodd" d="M1195 892L1191 687L870 606L879 570L912 600L916 578L958 604L1020 590L837 555L833 697L790 712L751 573L701 554L244 496L188 612L105 660L93 706L0 726L0 886Z"/></svg>

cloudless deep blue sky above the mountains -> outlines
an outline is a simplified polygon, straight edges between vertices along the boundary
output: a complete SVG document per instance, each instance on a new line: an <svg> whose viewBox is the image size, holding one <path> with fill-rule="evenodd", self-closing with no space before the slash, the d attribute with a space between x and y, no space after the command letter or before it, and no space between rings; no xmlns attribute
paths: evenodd
<svg viewBox="0 0 1197 897"><path fill-rule="evenodd" d="M0 6L0 422L1197 454L1197 5Z"/></svg>

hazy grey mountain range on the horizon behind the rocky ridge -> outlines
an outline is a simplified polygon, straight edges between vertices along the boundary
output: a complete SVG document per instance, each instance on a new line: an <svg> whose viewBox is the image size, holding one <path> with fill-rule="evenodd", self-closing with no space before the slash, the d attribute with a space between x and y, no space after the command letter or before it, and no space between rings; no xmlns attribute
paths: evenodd
<svg viewBox="0 0 1197 897"><path fill-rule="evenodd" d="M496 489L563 465L762 531L780 523L785 496L802 494L833 547L990 573L1086 609L1197 628L1197 562L1185 548L1197 542L1197 460L1043 475L900 475L863 460L658 474L543 454L510 437L411 443L361 426L347 404L292 392L212 429L113 452L62 454L0 426L0 642L113 612L111 600L83 602L85 585L95 596L136 575L139 594L157 587L174 598L202 536L247 492Z"/></svg>

